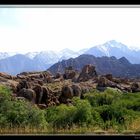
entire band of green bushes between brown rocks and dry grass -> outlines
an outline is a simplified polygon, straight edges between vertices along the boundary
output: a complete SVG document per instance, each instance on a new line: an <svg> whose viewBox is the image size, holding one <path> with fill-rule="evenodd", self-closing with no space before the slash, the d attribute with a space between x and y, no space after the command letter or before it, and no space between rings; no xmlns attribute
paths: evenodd
<svg viewBox="0 0 140 140"><path fill-rule="evenodd" d="M0 86L0 127L113 128L121 132L140 118L140 94L107 88L92 91L84 99L74 97L72 105L60 104L41 110L26 100L12 98L9 88ZM62 129L61 129L62 128Z"/></svg>

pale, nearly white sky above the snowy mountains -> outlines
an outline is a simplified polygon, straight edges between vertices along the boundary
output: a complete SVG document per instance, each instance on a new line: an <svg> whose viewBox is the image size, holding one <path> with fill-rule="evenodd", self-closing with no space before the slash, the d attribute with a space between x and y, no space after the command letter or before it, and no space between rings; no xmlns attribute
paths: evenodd
<svg viewBox="0 0 140 140"><path fill-rule="evenodd" d="M116 40L140 48L140 8L0 8L0 51L80 50Z"/></svg>

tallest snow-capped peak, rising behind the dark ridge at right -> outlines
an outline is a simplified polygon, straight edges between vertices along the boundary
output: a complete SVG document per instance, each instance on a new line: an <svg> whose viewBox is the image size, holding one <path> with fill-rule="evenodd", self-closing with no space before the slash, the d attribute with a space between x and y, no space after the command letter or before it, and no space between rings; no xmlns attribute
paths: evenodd
<svg viewBox="0 0 140 140"><path fill-rule="evenodd" d="M116 58L126 57L131 63L140 63L140 51L130 49L128 46L115 40L108 41L102 45L97 45L85 52L96 57L115 56Z"/></svg>

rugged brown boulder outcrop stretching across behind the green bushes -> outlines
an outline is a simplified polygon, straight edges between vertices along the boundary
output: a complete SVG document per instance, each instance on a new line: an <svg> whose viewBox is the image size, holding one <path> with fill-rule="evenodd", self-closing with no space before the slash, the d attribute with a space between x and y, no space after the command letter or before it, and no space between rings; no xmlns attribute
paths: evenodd
<svg viewBox="0 0 140 140"><path fill-rule="evenodd" d="M124 62L123 59L120 61ZM17 76L0 73L0 85L10 87L13 98L28 100L41 109L61 103L71 104L75 96L82 99L85 93L104 91L107 87L125 93L140 91L139 79L115 78L111 74L98 75L96 67L91 64L84 65L81 72L70 66L65 68L64 73L55 75L49 71L23 72Z"/></svg>

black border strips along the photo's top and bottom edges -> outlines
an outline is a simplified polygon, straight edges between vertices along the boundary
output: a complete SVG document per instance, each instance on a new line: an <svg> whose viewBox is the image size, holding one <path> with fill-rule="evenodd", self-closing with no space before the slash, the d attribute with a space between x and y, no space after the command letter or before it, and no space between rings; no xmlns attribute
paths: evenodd
<svg viewBox="0 0 140 140"><path fill-rule="evenodd" d="M29 0L0 0L0 8L1 7L8 7L8 8L12 8L12 7L92 7L92 6L97 6L97 7L136 7L136 8L140 8L140 4L138 3L138 0L134 1L133 0L133 3L132 1L128 1L128 3L123 3L123 1L121 1L121 3L119 3L120 1L112 1L113 3L110 3L108 1L103 1L103 3L101 1L91 1L89 0L89 3L88 1L86 2L82 2L82 3L76 3L76 1L74 3L72 3L72 1L66 1L65 2L62 2L62 1L57 1L57 2L54 2L54 1L47 1L47 0L39 0L39 1L29 1ZM136 3L134 3L136 2ZM110 139L117 139L117 140L120 140L120 139L134 139L134 140L139 140L140 139L140 134L138 135L135 135L135 134L128 134L128 135L102 135L102 134L99 134L99 135L0 135L0 139L7 139L7 138L10 138L10 139L24 139L24 140L27 140L27 139L38 139L38 140L41 140L41 139L44 139L44 140L48 140L48 139L56 139L56 140L63 140L63 139L92 139L92 140L97 140L97 139L107 139L107 140L110 140Z"/></svg>

